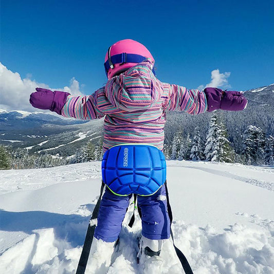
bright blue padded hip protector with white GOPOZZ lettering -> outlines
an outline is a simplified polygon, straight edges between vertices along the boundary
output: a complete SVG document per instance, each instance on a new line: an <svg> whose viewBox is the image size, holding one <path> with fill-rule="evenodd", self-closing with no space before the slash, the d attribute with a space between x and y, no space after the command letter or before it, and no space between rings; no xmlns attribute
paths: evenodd
<svg viewBox="0 0 274 274"><path fill-rule="evenodd" d="M165 184L166 176L165 156L153 145L119 144L103 156L103 182L116 195L152 195Z"/></svg>

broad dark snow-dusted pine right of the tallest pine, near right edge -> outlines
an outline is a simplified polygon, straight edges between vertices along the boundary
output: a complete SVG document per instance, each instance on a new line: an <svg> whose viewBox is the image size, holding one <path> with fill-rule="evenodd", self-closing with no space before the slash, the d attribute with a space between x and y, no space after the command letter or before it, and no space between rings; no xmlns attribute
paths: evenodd
<svg viewBox="0 0 274 274"><path fill-rule="evenodd" d="M264 163L265 133L257 126L249 125L244 132L244 151L248 165L262 165Z"/></svg>

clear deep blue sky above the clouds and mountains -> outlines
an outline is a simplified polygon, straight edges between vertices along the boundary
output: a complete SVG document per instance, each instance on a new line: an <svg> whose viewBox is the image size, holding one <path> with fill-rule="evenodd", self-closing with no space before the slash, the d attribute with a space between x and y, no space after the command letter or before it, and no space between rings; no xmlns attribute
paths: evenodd
<svg viewBox="0 0 274 274"><path fill-rule="evenodd" d="M274 82L274 1L1 1L1 62L50 87L106 82L109 45L134 39L152 52L162 82L197 88L211 71L230 89Z"/></svg>

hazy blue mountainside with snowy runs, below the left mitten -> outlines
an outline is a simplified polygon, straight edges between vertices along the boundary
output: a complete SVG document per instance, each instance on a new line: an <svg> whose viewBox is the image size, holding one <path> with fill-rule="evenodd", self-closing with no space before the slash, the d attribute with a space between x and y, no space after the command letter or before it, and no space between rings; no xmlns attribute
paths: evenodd
<svg viewBox="0 0 274 274"><path fill-rule="evenodd" d="M72 155L89 140L102 136L102 120L63 119L44 113L0 113L0 144L26 148L30 153ZM3 125L3 126L2 126Z"/></svg>

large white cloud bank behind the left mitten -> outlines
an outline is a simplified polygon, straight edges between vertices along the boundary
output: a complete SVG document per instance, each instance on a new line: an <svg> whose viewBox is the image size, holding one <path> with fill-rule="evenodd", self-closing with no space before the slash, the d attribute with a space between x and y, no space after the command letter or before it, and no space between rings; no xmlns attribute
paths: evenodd
<svg viewBox="0 0 274 274"><path fill-rule="evenodd" d="M70 85L63 88L50 88L47 84L38 83L30 79L31 75L22 79L18 72L13 72L0 62L0 108L7 111L23 110L38 111L29 103L29 96L35 92L35 87L44 87L51 90L61 90L72 95L83 95L80 92L79 82L72 78Z"/></svg>

